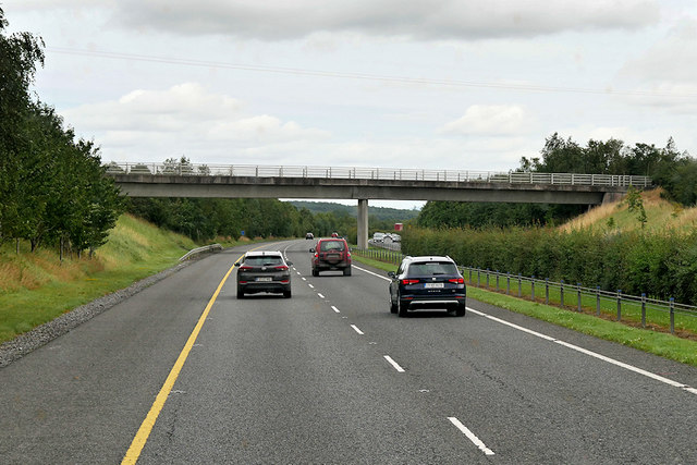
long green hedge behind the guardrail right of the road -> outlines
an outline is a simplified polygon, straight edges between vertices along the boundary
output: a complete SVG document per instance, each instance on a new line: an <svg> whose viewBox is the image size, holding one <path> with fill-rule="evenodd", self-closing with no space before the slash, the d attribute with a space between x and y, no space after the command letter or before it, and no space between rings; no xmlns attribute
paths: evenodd
<svg viewBox="0 0 697 465"><path fill-rule="evenodd" d="M697 305L697 230L608 234L551 228L409 228L402 235L402 250L449 255L462 266Z"/></svg>

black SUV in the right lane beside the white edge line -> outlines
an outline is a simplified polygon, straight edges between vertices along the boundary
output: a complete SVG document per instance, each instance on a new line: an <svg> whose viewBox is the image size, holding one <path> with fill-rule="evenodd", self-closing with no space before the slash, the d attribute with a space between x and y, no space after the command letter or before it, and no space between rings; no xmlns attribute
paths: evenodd
<svg viewBox="0 0 697 465"><path fill-rule="evenodd" d="M390 311L405 317L417 308L444 308L465 316L467 289L450 257L405 257L390 271Z"/></svg>

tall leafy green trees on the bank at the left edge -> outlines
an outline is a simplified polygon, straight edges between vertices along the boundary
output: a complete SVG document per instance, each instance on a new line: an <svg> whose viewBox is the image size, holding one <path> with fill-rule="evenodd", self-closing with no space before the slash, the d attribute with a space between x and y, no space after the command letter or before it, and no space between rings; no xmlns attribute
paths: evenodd
<svg viewBox="0 0 697 465"><path fill-rule="evenodd" d="M0 8L0 241L93 250L106 242L123 198L103 175L99 148L32 95L44 41L5 35L7 26Z"/></svg>

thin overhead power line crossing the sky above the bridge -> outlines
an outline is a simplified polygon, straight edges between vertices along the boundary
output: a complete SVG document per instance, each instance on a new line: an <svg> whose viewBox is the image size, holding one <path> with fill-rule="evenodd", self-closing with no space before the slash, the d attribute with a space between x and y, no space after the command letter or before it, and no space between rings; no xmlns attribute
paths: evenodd
<svg viewBox="0 0 697 465"><path fill-rule="evenodd" d="M81 50L81 49L71 49L65 47L47 47L46 50L54 53L78 56L78 57L97 57L97 58L107 58L107 59L113 59L113 60L180 64L180 65L196 66L196 68L216 68L216 69L223 69L223 70L253 71L253 72L259 72L259 73L277 73L277 74L289 74L289 75L299 75L299 76L364 79L364 81L377 81L377 82L402 83L402 84L414 84L414 85L492 88L492 89L540 91L540 93L595 94L595 95L633 96L633 97L678 97L678 98L697 97L697 94L677 94L677 93L664 93L664 91L591 89L591 88L579 88L579 87L555 87L555 86L542 86L542 85L530 85L530 84L502 84L502 83L490 83L490 82L437 79L437 78L428 78L428 77L384 76L384 75L377 75L377 74L307 70L307 69L299 69L299 68L281 68L281 66L265 66L265 65L242 64L242 63L223 63L218 61L155 57L155 56L146 56L146 54L109 52L109 51L100 51L100 50Z"/></svg>

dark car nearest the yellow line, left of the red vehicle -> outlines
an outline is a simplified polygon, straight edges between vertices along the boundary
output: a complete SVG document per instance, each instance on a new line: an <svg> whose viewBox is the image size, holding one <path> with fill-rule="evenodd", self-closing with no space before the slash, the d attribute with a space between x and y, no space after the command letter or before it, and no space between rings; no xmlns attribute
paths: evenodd
<svg viewBox="0 0 697 465"><path fill-rule="evenodd" d="M237 268L237 298L259 292L291 297L291 261L280 252L247 252Z"/></svg>

